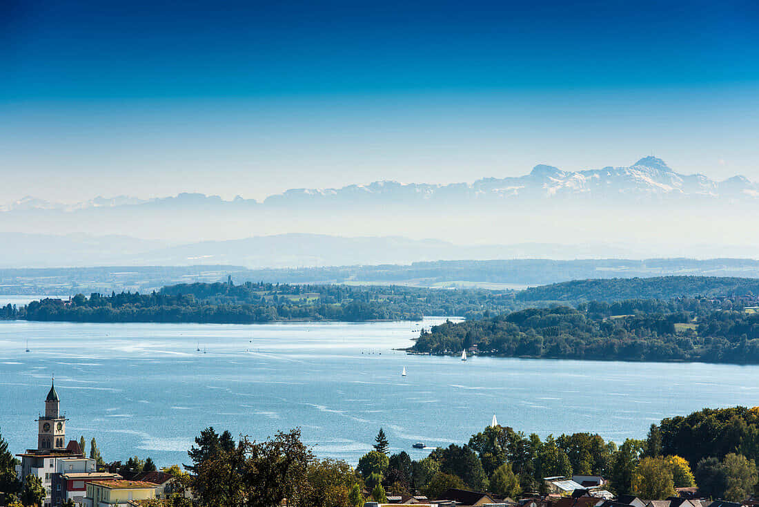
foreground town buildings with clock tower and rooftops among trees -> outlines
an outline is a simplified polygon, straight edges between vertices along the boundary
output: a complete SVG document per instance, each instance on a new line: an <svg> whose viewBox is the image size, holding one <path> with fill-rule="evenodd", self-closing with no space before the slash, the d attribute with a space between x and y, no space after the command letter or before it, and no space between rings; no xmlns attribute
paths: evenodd
<svg viewBox="0 0 759 507"><path fill-rule="evenodd" d="M168 506L177 505L170 499L176 499L178 494L184 501L181 505L197 505L194 492L179 485L176 470L137 470L123 467L121 462L105 464L99 459L87 458L80 442L66 438L67 419L61 414L60 399L58 392L55 391L54 382L45 400L45 413L40 415L36 422L38 423L37 446L16 455L20 460L20 464L16 465L16 474L21 482L27 481L30 476L39 479L45 492L41 507ZM493 425L497 425L495 417L493 417ZM631 495L615 496L606 489L607 484L608 481L599 475L544 477L540 493L522 493L516 499L503 498L488 492L449 488L439 494L438 498L428 498L420 494L388 494L382 502L374 500L376 491L364 488L357 507L361 505L363 507L386 505L417 505L418 507L466 507L468 505L486 507L759 506L759 499L755 499L754 496L749 497L745 502L708 500L699 495L697 487L676 488L676 496L663 500L641 499ZM330 505L329 502L320 502L320 504ZM288 505L287 500L283 500L280 505Z"/></svg>

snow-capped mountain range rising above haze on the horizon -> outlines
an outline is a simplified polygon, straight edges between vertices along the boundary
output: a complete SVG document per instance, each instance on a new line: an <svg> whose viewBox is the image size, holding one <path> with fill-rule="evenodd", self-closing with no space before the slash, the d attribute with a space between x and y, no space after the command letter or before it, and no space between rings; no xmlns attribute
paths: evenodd
<svg viewBox="0 0 759 507"><path fill-rule="evenodd" d="M89 208L118 208L149 205L175 207L204 204L209 206L288 207L301 204L366 204L370 201L468 201L509 200L512 198L628 198L666 196L694 198L757 199L759 185L743 176L721 182L702 174L676 173L657 157L644 157L631 166L603 167L597 170L562 171L543 164L534 166L525 176L483 178L468 183L436 185L430 183L373 182L369 185L348 185L342 189L290 189L271 195L263 202L237 197L224 201L216 195L182 193L176 197L140 199L127 195L114 198L96 197L76 204L63 204L27 196L0 206L0 211L57 210L78 211Z"/></svg>

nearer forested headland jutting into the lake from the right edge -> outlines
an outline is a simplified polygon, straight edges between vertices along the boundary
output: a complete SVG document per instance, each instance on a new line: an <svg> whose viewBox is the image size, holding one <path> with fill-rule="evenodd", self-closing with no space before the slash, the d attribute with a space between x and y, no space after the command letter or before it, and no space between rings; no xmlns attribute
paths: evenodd
<svg viewBox="0 0 759 507"><path fill-rule="evenodd" d="M422 330L411 351L575 360L759 363L750 296L630 299L523 309Z"/></svg>

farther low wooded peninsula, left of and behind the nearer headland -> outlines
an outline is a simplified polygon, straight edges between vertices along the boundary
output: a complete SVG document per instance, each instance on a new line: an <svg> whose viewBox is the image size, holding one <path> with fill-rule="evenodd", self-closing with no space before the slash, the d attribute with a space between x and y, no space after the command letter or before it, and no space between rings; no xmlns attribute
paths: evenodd
<svg viewBox="0 0 759 507"><path fill-rule="evenodd" d="M402 286L178 284L152 293L77 294L42 299L0 318L61 322L198 322L421 320L423 315L480 318L513 309L512 291Z"/></svg>

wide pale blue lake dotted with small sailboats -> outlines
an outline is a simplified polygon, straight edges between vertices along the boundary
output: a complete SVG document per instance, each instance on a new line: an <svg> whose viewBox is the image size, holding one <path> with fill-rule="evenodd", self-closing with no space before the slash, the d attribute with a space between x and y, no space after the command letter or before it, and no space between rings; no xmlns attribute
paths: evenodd
<svg viewBox="0 0 759 507"><path fill-rule="evenodd" d="M206 426L254 439L300 426L317 455L355 464L380 426L393 452L421 458L429 450L414 442L467 442L493 414L525 433L592 431L619 443L663 417L759 401L757 366L462 362L392 350L418 333L411 322L0 322L0 430L13 452L36 447L52 374L68 439L83 435L89 447L94 436L106 461L159 465L187 463Z"/></svg>

